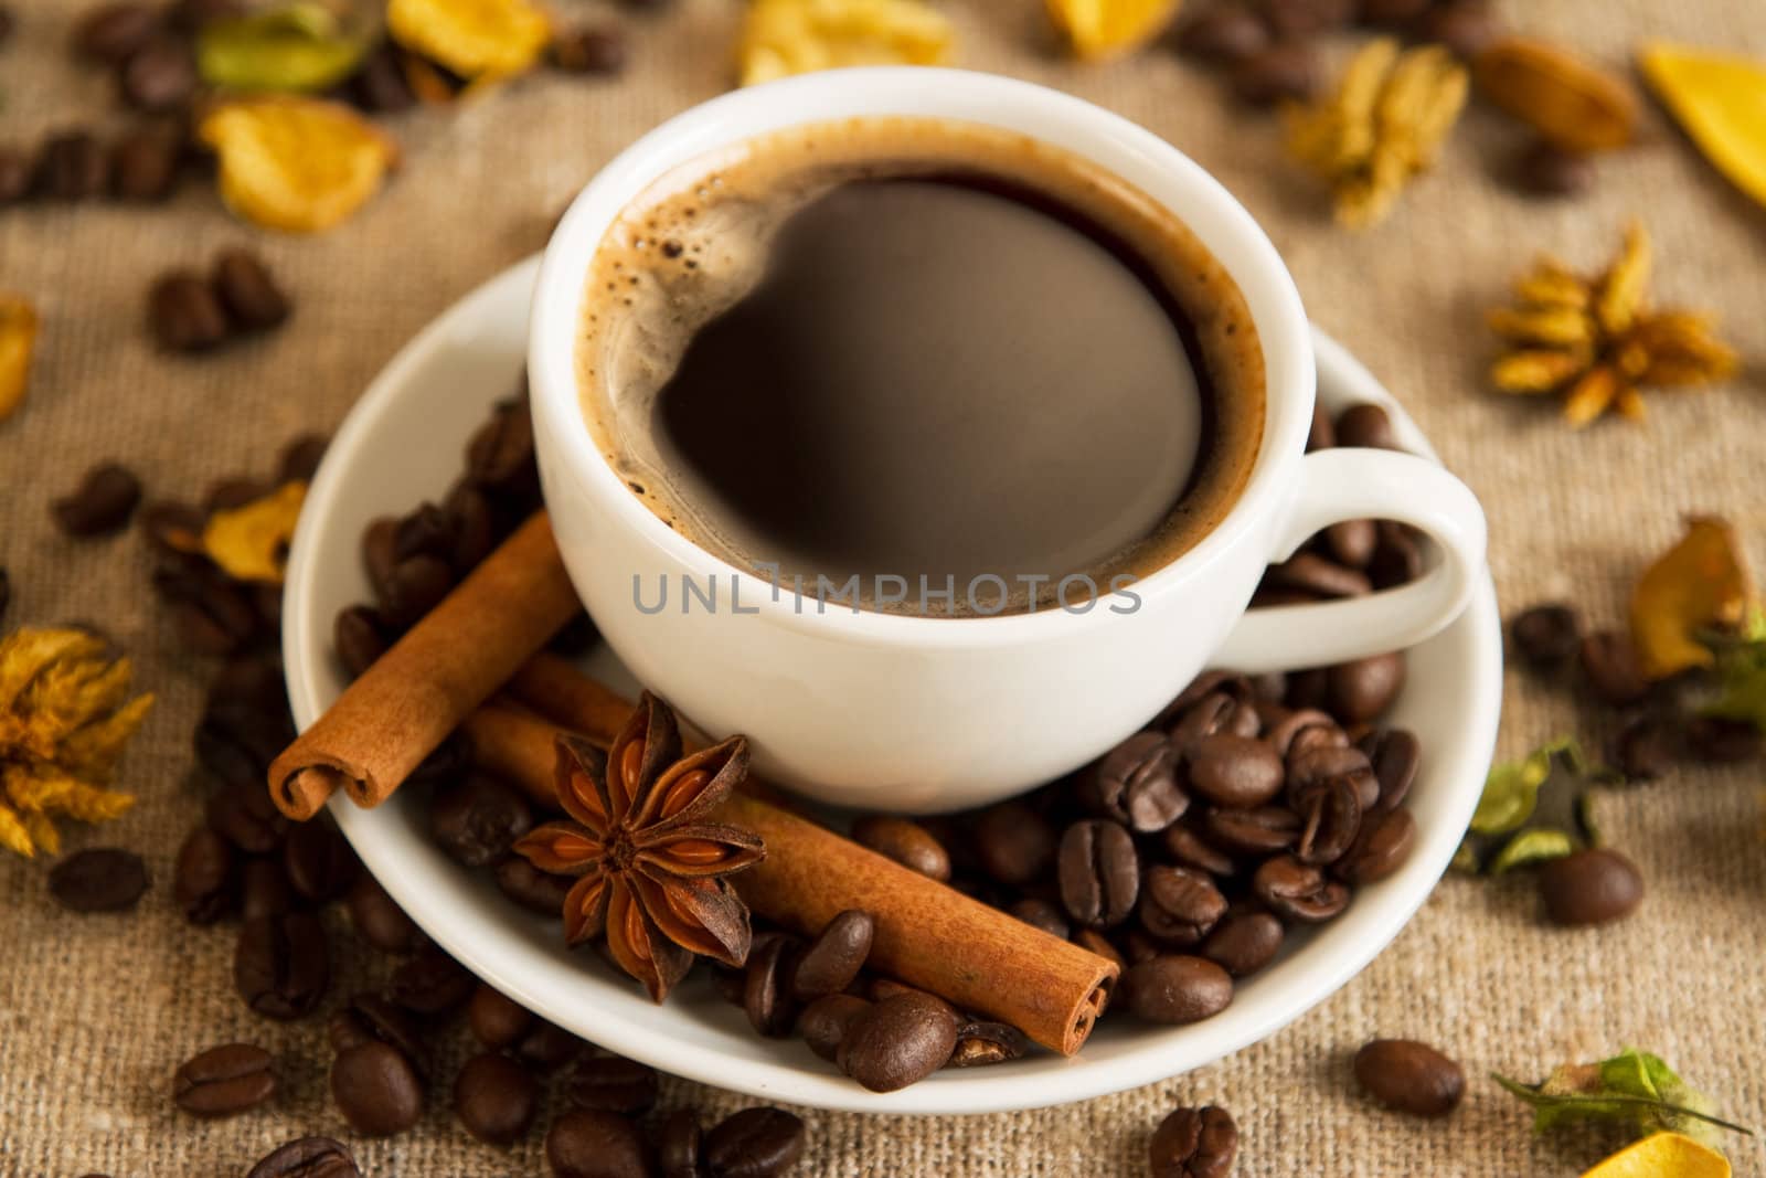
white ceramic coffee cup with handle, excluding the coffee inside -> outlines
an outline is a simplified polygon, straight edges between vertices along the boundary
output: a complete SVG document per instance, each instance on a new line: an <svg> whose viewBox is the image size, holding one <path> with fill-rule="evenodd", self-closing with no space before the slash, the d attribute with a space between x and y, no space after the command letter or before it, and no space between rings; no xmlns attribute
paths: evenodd
<svg viewBox="0 0 1766 1178"><path fill-rule="evenodd" d="M1256 323L1268 415L1227 517L1134 586L1139 608L996 618L818 611L758 592L728 608L735 569L662 525L583 422L576 341L588 261L652 180L779 127L865 115L991 124L1090 157L1176 212L1233 276ZM638 680L699 728L747 733L774 781L842 805L947 811L1058 777L1141 728L1204 664L1284 669L1395 650L1452 622L1483 565L1483 516L1434 463L1385 450L1303 454L1312 341L1293 279L1250 215L1164 140L1023 81L936 69L855 69L738 90L689 109L609 162L565 214L535 288L528 374L540 479L570 576ZM1436 565L1360 600L1245 613L1264 565L1319 528L1416 525ZM676 595L645 613L634 579L724 583L712 611Z"/></svg>

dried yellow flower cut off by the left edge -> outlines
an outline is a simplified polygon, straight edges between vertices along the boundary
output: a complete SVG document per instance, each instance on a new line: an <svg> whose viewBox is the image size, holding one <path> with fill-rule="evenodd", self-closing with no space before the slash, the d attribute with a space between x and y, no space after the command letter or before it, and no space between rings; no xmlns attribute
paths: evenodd
<svg viewBox="0 0 1766 1178"><path fill-rule="evenodd" d="M87 631L21 629L0 639L0 846L60 850L53 818L106 821L134 797L108 789L154 705L129 699L127 659Z"/></svg>

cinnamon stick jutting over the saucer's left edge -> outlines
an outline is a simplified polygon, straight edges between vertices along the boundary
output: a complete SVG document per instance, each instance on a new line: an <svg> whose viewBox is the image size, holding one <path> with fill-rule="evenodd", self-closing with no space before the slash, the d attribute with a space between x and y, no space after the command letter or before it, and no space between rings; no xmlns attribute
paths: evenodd
<svg viewBox="0 0 1766 1178"><path fill-rule="evenodd" d="M577 609L535 512L275 758L270 798L300 821L337 789L380 805Z"/></svg>

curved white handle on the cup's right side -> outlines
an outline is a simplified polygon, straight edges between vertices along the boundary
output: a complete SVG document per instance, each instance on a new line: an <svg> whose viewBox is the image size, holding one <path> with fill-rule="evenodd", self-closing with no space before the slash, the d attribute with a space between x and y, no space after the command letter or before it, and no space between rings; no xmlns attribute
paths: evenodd
<svg viewBox="0 0 1766 1178"><path fill-rule="evenodd" d="M1460 615L1483 572L1483 509L1438 463L1397 450L1339 447L1300 461L1287 519L1270 560L1346 519L1397 519L1422 528L1441 560L1409 585L1305 606L1250 609L1208 661L1247 675L1330 666L1402 650Z"/></svg>

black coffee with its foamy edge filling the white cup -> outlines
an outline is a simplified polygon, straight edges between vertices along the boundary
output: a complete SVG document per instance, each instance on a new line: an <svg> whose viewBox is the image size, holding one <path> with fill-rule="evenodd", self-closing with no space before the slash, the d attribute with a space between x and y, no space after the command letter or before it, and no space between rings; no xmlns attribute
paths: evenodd
<svg viewBox="0 0 1766 1178"><path fill-rule="evenodd" d="M1070 574L1107 592L1213 526L1256 457L1261 357L1224 272L1017 136L865 120L751 143L641 200L593 281L609 457L786 585L857 576L867 606L957 615L1053 602Z"/></svg>

